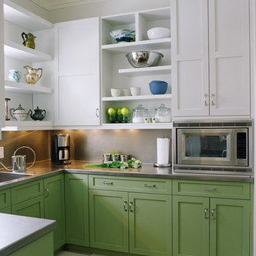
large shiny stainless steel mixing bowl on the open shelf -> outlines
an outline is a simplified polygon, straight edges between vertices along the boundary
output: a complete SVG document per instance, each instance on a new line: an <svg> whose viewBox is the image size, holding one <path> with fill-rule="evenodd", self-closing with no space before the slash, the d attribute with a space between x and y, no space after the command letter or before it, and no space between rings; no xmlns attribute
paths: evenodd
<svg viewBox="0 0 256 256"><path fill-rule="evenodd" d="M162 53L149 51L126 53L126 58L133 67L158 66L162 57Z"/></svg>

